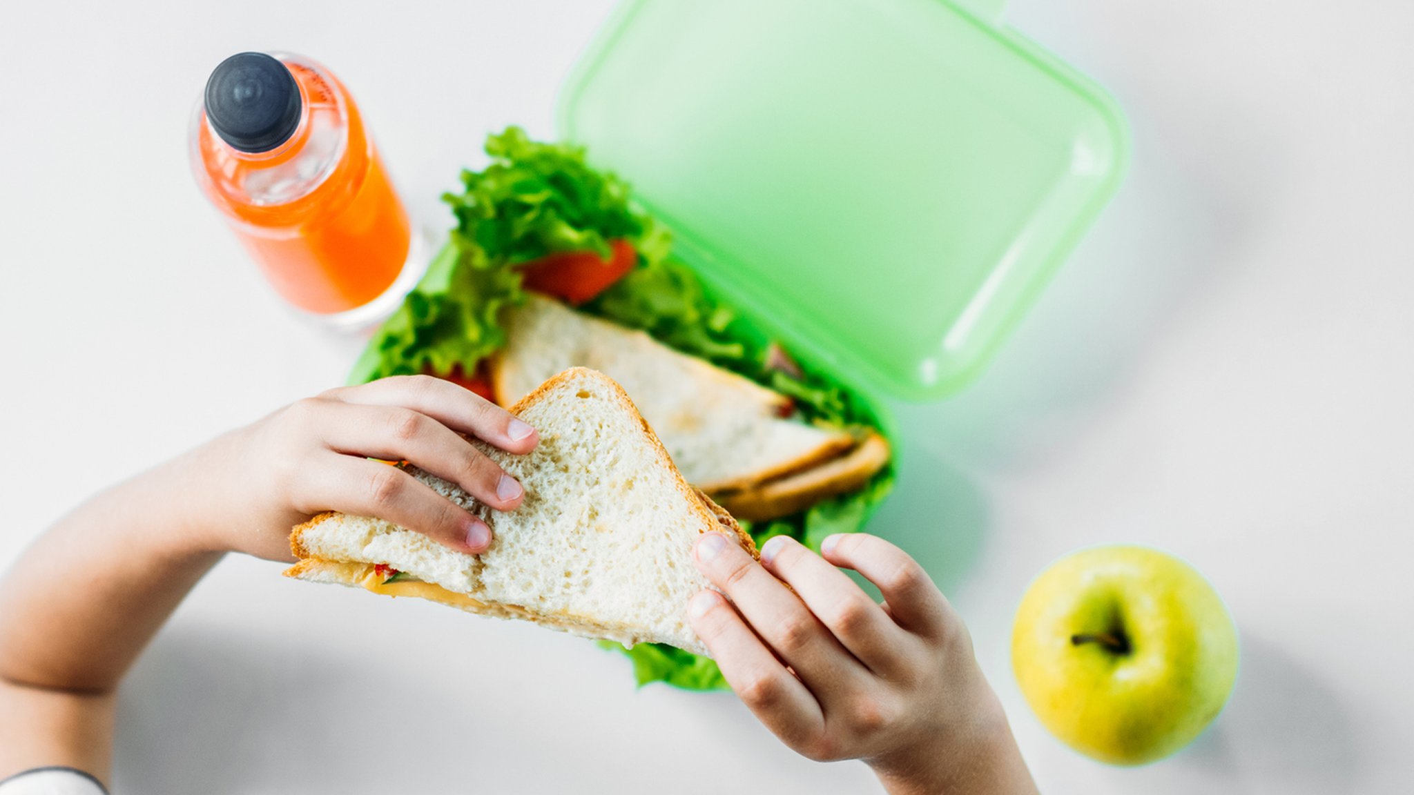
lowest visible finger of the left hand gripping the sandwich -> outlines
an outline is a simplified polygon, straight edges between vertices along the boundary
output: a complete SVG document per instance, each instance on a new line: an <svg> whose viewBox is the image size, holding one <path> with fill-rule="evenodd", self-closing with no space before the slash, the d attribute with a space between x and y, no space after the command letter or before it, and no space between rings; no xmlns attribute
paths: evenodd
<svg viewBox="0 0 1414 795"><path fill-rule="evenodd" d="M491 546L491 528L465 508L390 464L329 455L312 470L308 511L376 516L416 530L457 552Z"/></svg>

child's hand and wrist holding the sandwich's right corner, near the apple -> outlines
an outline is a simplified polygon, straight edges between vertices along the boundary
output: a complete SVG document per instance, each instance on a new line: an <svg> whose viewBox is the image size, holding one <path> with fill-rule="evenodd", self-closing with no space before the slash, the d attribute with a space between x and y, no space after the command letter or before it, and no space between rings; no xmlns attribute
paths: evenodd
<svg viewBox="0 0 1414 795"><path fill-rule="evenodd" d="M967 629L923 569L870 535L822 550L776 536L758 564L718 533L699 540L699 569L731 603L701 591L689 615L741 700L790 748L864 760L895 794L1035 792Z"/></svg>

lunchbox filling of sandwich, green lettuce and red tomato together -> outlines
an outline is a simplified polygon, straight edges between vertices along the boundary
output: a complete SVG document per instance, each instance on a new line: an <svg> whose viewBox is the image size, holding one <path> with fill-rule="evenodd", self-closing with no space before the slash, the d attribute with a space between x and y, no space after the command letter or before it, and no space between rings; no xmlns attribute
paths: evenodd
<svg viewBox="0 0 1414 795"><path fill-rule="evenodd" d="M509 127L485 151L443 197L457 219L447 245L349 381L431 373L513 406L564 368L601 369L756 545L789 535L817 547L858 530L894 482L870 402L708 291L667 228L583 149ZM682 646L626 654L641 683L725 686Z"/></svg>

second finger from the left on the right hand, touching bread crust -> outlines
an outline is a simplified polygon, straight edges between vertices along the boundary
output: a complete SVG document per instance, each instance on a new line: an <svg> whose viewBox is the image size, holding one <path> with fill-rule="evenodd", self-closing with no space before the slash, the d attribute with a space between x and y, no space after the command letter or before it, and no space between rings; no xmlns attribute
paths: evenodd
<svg viewBox="0 0 1414 795"><path fill-rule="evenodd" d="M704 533L696 553L697 567L731 597L756 635L819 700L855 685L864 675L860 662L747 550L721 533Z"/></svg>

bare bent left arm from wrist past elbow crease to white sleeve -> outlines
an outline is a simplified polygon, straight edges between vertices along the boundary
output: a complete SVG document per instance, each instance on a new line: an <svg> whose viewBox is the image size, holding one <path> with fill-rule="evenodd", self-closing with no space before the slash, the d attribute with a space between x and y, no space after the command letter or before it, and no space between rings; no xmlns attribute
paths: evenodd
<svg viewBox="0 0 1414 795"><path fill-rule="evenodd" d="M197 511L211 454L89 499L0 580L0 778L40 765L106 778L117 682L221 557Z"/></svg>

